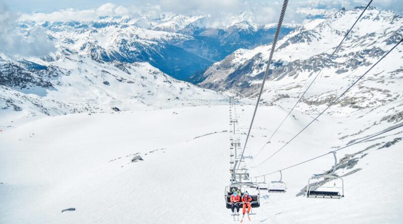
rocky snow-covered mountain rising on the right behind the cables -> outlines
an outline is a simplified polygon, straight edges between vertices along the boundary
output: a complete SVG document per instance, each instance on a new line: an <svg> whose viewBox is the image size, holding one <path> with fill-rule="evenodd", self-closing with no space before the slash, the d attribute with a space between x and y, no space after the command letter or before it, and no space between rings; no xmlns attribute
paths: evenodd
<svg viewBox="0 0 403 224"><path fill-rule="evenodd" d="M293 91L301 92L305 88L303 84L322 67L322 79L345 77L348 80L368 68L403 35L403 18L398 13L371 7L337 54L329 58L362 10L362 7L342 9L326 19L307 21L282 38L274 54L267 91L276 90L277 85L298 83ZM270 49L269 44L251 50L236 50L208 68L201 75L200 80L204 81L199 85L216 91L253 95L259 88ZM396 57L401 55L390 55L378 66L384 71L383 77L401 74L402 64L393 63Z"/></svg>

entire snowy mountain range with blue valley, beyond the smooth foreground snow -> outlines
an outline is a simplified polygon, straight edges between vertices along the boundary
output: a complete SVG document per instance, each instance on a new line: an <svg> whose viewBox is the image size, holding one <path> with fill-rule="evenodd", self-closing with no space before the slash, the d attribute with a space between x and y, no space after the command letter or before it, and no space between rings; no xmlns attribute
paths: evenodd
<svg viewBox="0 0 403 224"><path fill-rule="evenodd" d="M315 112L403 36L400 14L371 7L329 58L362 10L315 11L301 26L283 26L261 103L293 102L323 68L298 106ZM241 19L219 29L207 28L204 17L179 15L20 22L24 35L46 28L56 51L25 59L0 53L0 108L29 117L220 104L228 93L254 97L274 25ZM401 59L399 46L340 105L359 109L398 99Z"/></svg>

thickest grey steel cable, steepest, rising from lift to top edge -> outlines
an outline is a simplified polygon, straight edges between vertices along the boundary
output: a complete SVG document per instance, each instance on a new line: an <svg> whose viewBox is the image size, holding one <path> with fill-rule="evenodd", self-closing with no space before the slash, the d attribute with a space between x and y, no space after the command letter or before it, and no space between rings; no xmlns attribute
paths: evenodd
<svg viewBox="0 0 403 224"><path fill-rule="evenodd" d="M276 49L277 40L279 39L280 29L281 29L281 26L283 24L284 15L286 14L287 5L288 5L288 0L284 0L283 8L282 8L281 13L280 13L279 23L277 24L276 34L275 34L275 37L274 37L274 40L273 40L273 43L272 43L272 49L270 51L270 56L269 56L268 61L267 61L266 69L264 71L264 76L263 76L263 81L261 83L260 92L259 92L259 95L257 97L256 106L255 106L255 109L254 109L254 112L253 112L252 120L250 122L248 134L246 135L245 145L243 146L241 160L243 158L243 154L245 152L245 147L246 147L246 144L247 144L248 139L249 139L250 130L252 129L252 125L253 125L253 121L255 119L257 107L259 106L260 97L261 97L262 92L263 92L264 83L266 82L266 78L267 78L267 75L268 75L270 64L272 63L273 54L274 54L274 51ZM239 168L239 165L238 165L238 168Z"/></svg>

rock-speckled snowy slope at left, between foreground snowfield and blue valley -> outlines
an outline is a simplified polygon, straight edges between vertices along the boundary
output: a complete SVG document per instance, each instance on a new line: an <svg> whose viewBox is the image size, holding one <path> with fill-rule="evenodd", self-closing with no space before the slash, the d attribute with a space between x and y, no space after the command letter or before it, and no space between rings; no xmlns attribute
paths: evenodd
<svg viewBox="0 0 403 224"><path fill-rule="evenodd" d="M99 62L68 51L56 58L40 61L45 65L2 58L1 128L22 117L222 104L225 99L147 62Z"/></svg>

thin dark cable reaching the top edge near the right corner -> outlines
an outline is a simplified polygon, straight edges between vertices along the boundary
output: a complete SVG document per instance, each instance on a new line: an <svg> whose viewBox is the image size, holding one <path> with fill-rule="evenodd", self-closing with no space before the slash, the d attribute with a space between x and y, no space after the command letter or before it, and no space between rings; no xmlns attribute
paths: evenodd
<svg viewBox="0 0 403 224"><path fill-rule="evenodd" d="M331 58L340 48L340 46L342 45L342 43L344 42L344 40L346 39L346 37L349 35L350 31L354 28L354 26L357 24L357 22L360 20L361 16L364 14L364 12L367 10L367 8L369 7L369 5L371 5L373 0L371 0L367 7L365 7L365 9L362 11L361 15L357 18L356 22L353 24L353 26L351 26L351 28L347 31L346 35L344 35L342 41L339 43L339 45L336 47L336 49L334 49L333 53L330 54L329 58ZM298 99L298 101L295 103L295 105L291 108L290 112L288 112L287 116L283 119L283 121L280 123L280 125L276 128L276 130L272 133L272 135L268 138L268 140L264 143L263 147L261 147L260 151L252 158L252 160L248 163L251 164L252 161L254 160L254 158L256 158L260 152L263 150L263 148L267 145L268 142L270 142L270 140L272 139L272 137L277 133L277 131L280 129L280 127L283 125L283 123L286 121L286 119L288 118L288 116L290 116L291 112L294 111L295 107L297 106L297 104L303 99L303 97L305 96L305 93L309 90L309 88L312 86L312 84L315 82L316 78L318 78L319 74L322 72L324 66L319 70L319 72L316 74L316 76L313 78L312 82L309 84L309 86L306 88L306 90L302 93L301 97Z"/></svg>

